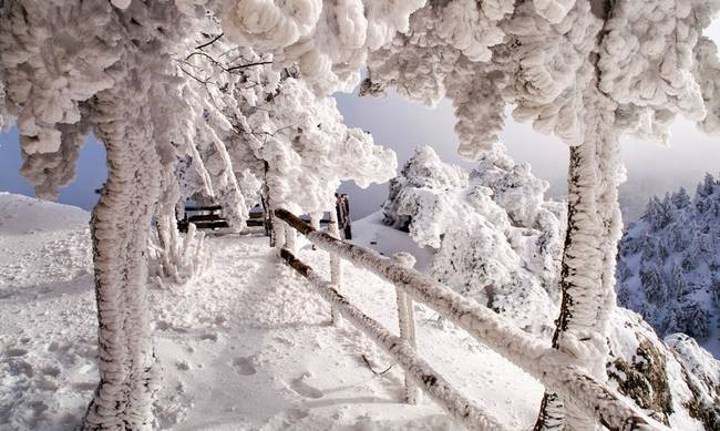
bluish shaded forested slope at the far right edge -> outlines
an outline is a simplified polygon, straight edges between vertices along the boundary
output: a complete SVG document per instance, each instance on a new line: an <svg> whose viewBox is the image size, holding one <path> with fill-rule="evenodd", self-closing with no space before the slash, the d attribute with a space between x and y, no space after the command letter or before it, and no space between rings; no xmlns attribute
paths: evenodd
<svg viewBox="0 0 720 431"><path fill-rule="evenodd" d="M685 189L651 198L620 242L619 302L641 314L660 335L685 332L700 342L720 335L712 269L720 253L716 208L720 182L707 175L692 205Z"/></svg>

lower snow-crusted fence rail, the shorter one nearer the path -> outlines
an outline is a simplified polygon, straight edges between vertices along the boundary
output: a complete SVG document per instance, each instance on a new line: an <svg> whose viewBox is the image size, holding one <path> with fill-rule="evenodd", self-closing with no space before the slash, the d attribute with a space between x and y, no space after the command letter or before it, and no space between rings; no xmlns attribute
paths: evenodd
<svg viewBox="0 0 720 431"><path fill-rule="evenodd" d="M325 281L309 266L300 261L290 250L282 248L280 256L295 270L306 277L318 290L320 296L330 302L332 309L340 312L347 321L364 332L370 339L382 347L388 355L422 388L430 398L438 402L453 418L469 430L504 430L490 413L467 400L455 390L428 362L418 356L408 340L393 336L378 321L368 317L350 304L336 289L335 285Z"/></svg>

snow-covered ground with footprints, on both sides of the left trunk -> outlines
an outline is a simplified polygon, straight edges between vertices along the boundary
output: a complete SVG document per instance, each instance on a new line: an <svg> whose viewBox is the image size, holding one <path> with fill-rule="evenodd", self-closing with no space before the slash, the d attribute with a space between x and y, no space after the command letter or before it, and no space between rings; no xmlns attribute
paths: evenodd
<svg viewBox="0 0 720 431"><path fill-rule="evenodd" d="M0 194L0 429L73 429L90 401L97 349L88 219L74 207ZM370 225L353 226L359 243L382 242ZM399 246L385 240L385 253ZM456 429L428 399L401 402L401 370L376 376L362 356L378 371L390 359L357 330L330 326L327 304L267 238L208 244L213 264L199 279L151 289L160 428ZM328 275L323 252L302 244L299 255ZM343 268L341 290L397 331L393 287ZM508 429L532 428L539 383L424 307L416 317L420 351L433 367Z"/></svg>

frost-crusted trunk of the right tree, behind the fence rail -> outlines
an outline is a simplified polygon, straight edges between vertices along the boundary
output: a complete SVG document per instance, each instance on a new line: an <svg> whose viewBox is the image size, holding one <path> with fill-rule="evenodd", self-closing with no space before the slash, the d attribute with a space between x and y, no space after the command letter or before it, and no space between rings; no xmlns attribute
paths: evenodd
<svg viewBox="0 0 720 431"><path fill-rule="evenodd" d="M570 147L568 219L553 347L579 358L606 380L608 317L615 306L615 258L621 235L618 186L623 178L615 105L592 89L584 98L585 142ZM594 430L592 418L546 392L535 430Z"/></svg>

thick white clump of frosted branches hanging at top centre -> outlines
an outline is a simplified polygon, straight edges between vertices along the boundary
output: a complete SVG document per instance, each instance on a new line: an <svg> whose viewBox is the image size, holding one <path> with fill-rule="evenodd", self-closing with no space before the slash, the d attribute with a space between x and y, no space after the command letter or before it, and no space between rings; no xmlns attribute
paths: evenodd
<svg viewBox="0 0 720 431"><path fill-rule="evenodd" d="M278 66L297 63L323 93L350 91L369 50L408 29L423 0L225 1L220 22L233 43L272 53Z"/></svg>

